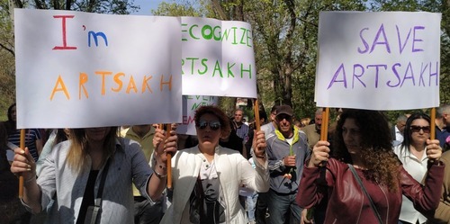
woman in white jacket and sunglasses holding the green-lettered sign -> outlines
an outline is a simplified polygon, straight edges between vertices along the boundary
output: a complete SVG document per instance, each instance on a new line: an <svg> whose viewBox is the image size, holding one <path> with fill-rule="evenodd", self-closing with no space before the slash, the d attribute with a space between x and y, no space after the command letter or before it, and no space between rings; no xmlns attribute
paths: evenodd
<svg viewBox="0 0 450 224"><path fill-rule="evenodd" d="M230 131L225 112L202 106L194 121L199 143L172 158L172 204L160 223L247 223L239 187L257 192L269 187L264 131L253 141L254 169L238 151L220 147L220 138Z"/></svg>

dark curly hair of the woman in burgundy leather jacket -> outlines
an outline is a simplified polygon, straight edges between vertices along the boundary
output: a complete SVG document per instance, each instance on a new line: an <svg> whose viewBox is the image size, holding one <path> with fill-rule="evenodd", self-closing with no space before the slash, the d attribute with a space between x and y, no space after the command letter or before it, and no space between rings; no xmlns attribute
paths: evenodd
<svg viewBox="0 0 450 224"><path fill-rule="evenodd" d="M365 161L365 178L383 184L390 192L399 191L401 165L392 150L392 135L388 120L382 112L346 109L340 116L334 137L333 157L348 164L352 158L342 135L347 119L354 119L361 133L361 157Z"/></svg>

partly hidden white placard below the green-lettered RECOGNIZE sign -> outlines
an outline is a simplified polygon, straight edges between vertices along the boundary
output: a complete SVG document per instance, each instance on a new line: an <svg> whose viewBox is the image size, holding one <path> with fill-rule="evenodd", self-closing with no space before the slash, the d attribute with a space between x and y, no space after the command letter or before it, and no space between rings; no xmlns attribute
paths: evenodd
<svg viewBox="0 0 450 224"><path fill-rule="evenodd" d="M206 95L184 95L183 96L183 122L176 127L176 133L197 135L193 116L200 106L218 105L219 97Z"/></svg>

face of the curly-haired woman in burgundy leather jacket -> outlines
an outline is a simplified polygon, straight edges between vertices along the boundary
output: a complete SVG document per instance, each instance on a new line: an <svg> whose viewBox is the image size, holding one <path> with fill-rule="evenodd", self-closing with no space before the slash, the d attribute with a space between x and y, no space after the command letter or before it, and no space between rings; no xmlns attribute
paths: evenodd
<svg viewBox="0 0 450 224"><path fill-rule="evenodd" d="M356 155L361 153L361 132L353 118L347 118L342 125L342 138L346 144L348 153Z"/></svg>

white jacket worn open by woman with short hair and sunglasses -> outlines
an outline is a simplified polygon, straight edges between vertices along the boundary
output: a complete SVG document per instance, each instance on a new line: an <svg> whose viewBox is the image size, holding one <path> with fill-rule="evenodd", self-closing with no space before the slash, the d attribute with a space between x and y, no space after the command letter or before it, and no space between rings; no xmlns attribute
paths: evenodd
<svg viewBox="0 0 450 224"><path fill-rule="evenodd" d="M173 200L161 224L190 223L189 215L184 209L188 208L186 205L200 172L202 165L200 154L196 146L180 150L172 158ZM238 202L239 185L245 184L257 192L267 192L269 190L267 162L264 166L256 162L257 167L254 169L238 151L217 147L214 163L219 175L221 194L225 200L226 223L246 223L245 211ZM183 217L184 212L186 215Z"/></svg>

